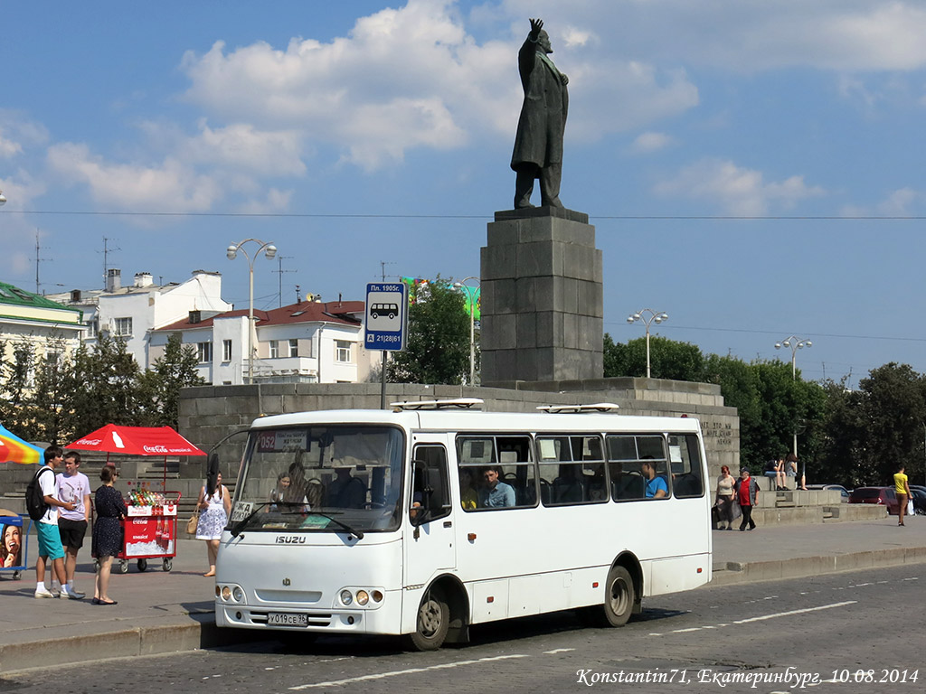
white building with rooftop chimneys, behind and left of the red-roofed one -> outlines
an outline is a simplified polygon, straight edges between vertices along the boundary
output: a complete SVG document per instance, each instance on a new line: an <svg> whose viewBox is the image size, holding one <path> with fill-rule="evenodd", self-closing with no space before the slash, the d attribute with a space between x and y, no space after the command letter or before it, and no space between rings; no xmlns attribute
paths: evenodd
<svg viewBox="0 0 926 694"><path fill-rule="evenodd" d="M131 286L123 287L121 271L111 268L106 272L105 290L73 290L49 294L46 298L83 312L88 327L86 344L95 344L98 332L118 337L144 369L152 366L158 356L149 350L153 330L175 323L191 312L214 316L233 308L222 300L221 288L221 274L206 270L194 270L191 279L166 285L155 284L150 273L138 272Z"/></svg>

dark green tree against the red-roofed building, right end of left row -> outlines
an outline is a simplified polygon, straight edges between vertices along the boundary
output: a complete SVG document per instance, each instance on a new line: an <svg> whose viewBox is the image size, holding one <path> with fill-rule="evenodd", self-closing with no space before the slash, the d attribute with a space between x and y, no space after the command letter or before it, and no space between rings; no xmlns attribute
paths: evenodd
<svg viewBox="0 0 926 694"><path fill-rule="evenodd" d="M206 382L196 371L198 363L191 345L181 344L176 334L168 338L164 353L155 360L154 367L139 375L140 418L144 426L178 427L181 388L201 386Z"/></svg>

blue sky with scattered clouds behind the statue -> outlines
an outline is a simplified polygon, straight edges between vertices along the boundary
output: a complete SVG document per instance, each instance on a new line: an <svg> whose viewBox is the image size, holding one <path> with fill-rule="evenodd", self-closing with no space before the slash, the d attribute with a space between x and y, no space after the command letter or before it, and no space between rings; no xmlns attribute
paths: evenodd
<svg viewBox="0 0 926 694"><path fill-rule="evenodd" d="M804 378L926 372L921 0L0 4L0 281L219 271L258 308L480 272L529 18L569 76L560 198L605 330ZM539 193L535 192L535 197ZM38 246L38 250L36 247ZM245 244L252 255L256 243Z"/></svg>

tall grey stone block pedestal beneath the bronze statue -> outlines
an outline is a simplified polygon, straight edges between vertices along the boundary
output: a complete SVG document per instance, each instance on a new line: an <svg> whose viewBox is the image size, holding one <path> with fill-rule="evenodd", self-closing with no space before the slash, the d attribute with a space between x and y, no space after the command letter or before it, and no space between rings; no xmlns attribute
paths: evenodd
<svg viewBox="0 0 926 694"><path fill-rule="evenodd" d="M481 274L483 385L602 378L602 258L588 215L496 212Z"/></svg>

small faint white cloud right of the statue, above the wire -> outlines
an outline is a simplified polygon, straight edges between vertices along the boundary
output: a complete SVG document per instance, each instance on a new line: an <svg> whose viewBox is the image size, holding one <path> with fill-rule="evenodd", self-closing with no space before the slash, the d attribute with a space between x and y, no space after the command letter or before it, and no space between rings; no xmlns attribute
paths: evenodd
<svg viewBox="0 0 926 694"><path fill-rule="evenodd" d="M725 214L742 217L767 215L773 205L788 209L824 194L818 186L808 187L803 176L766 181L761 171L718 159L703 159L683 168L674 179L657 184L654 192L720 204Z"/></svg>

